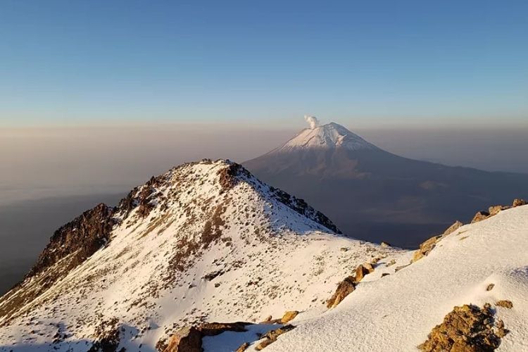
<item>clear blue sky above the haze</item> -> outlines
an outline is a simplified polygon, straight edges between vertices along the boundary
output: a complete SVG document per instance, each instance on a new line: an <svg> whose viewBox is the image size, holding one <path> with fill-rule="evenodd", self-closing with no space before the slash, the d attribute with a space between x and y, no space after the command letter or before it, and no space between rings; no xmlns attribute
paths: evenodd
<svg viewBox="0 0 528 352"><path fill-rule="evenodd" d="M1 1L0 122L518 125L527 13L528 1Z"/></svg>

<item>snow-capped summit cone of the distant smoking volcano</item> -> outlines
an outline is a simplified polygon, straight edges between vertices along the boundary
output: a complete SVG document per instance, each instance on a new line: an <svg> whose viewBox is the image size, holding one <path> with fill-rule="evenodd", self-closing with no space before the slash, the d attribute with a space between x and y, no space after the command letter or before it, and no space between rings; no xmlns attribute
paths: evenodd
<svg viewBox="0 0 528 352"><path fill-rule="evenodd" d="M290 139L279 151L292 151L298 149L336 149L349 150L377 149L357 134L350 132L345 127L330 122L315 128L306 128Z"/></svg>

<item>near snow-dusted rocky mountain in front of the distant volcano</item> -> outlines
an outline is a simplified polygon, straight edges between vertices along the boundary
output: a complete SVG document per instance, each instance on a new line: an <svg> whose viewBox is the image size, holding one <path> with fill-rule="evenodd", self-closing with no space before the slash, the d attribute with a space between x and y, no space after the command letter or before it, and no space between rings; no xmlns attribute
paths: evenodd
<svg viewBox="0 0 528 352"><path fill-rule="evenodd" d="M0 348L87 351L101 331L153 351L178 327L320 306L394 249L341 237L325 215L240 165L174 168L61 227L0 298Z"/></svg>

